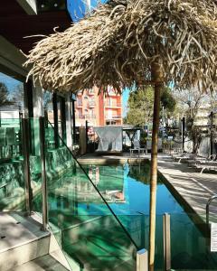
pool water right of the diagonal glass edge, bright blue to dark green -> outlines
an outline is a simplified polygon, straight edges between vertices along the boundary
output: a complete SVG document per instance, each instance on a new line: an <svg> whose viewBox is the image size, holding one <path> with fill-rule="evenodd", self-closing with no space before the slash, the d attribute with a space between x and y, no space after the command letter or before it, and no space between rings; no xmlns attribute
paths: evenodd
<svg viewBox="0 0 217 271"><path fill-rule="evenodd" d="M96 180L96 171L99 171L99 190L109 192L109 182L121 183L119 192L123 196L113 196L109 206L118 215L131 237L137 242L139 248L148 249L149 227L149 164L124 166L88 166L87 173ZM92 172L92 173L91 173ZM111 181L113 180L113 181ZM120 184L119 184L120 185ZM115 185L114 185L115 187ZM189 188L191 189L191 188ZM117 187L118 190L118 187ZM118 194L119 195L119 194ZM206 238L204 225L198 221L195 214L188 212L186 207L175 199L168 190L164 178L158 177L156 192L156 269L164 265L163 259L163 215L171 216L171 253L172 268L174 269L200 269L217 270L216 253L209 250L209 240ZM91 212L98 212L99 205L91 204ZM163 270L163 268L162 268Z"/></svg>

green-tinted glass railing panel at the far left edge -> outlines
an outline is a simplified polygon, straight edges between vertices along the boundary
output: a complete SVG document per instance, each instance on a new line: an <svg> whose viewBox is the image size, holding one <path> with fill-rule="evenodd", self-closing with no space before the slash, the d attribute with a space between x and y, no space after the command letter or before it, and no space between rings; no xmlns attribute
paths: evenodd
<svg viewBox="0 0 217 271"><path fill-rule="evenodd" d="M0 210L25 210L20 118L0 120Z"/></svg>

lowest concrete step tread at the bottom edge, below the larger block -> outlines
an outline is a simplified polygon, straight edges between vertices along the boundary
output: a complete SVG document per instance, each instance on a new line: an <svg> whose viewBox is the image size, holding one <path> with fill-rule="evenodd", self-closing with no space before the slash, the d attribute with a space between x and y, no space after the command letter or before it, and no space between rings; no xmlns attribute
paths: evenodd
<svg viewBox="0 0 217 271"><path fill-rule="evenodd" d="M8 271L67 271L66 267L62 266L54 257L51 255L45 255L38 257L33 261L25 263L22 266L14 267Z"/></svg>

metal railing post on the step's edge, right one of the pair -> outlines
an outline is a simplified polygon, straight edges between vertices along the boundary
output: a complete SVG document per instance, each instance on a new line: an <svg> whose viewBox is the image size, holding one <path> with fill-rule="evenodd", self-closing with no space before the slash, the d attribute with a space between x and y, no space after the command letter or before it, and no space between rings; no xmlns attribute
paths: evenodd
<svg viewBox="0 0 217 271"><path fill-rule="evenodd" d="M45 129L44 117L39 117L40 126L40 151L42 161L42 230L48 226L48 197L47 197L47 178L46 178L46 161L45 161Z"/></svg>

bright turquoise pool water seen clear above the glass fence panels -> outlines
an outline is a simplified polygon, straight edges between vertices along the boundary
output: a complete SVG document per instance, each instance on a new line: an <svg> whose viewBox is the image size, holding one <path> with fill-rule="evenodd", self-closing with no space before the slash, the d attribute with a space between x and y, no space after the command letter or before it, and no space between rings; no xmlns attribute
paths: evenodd
<svg viewBox="0 0 217 271"><path fill-rule="evenodd" d="M136 215L149 213L149 164L119 165L119 166L88 166L85 170L91 180L96 183L103 196L110 195L109 206L118 215ZM99 173L98 173L99 172ZM99 180L96 176L99 174ZM183 207L175 200L166 188L163 178L158 177L156 195L156 214L168 213L184 214ZM112 202L114 201L114 202ZM85 207L85 205L84 205ZM90 204L90 213L99 213L99 204Z"/></svg>

